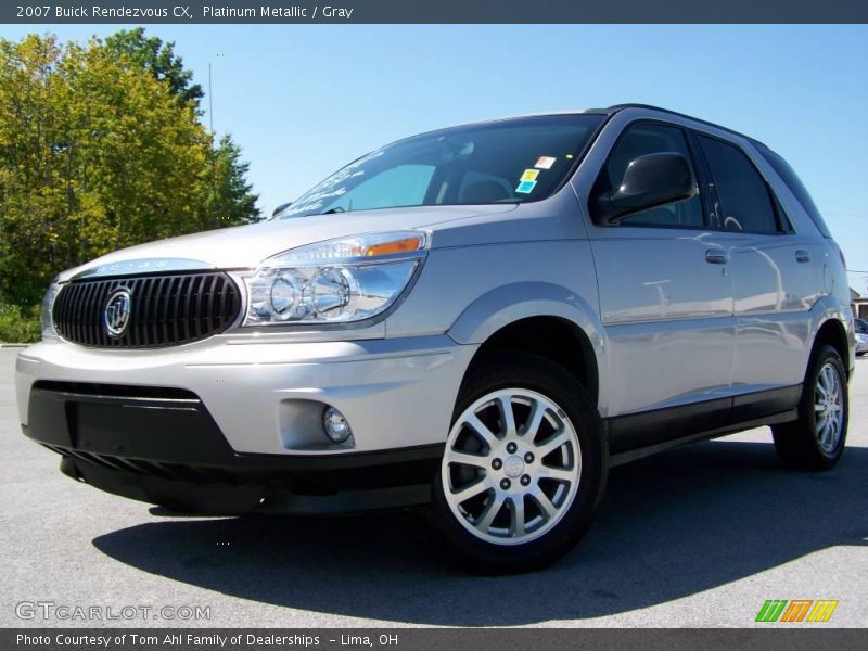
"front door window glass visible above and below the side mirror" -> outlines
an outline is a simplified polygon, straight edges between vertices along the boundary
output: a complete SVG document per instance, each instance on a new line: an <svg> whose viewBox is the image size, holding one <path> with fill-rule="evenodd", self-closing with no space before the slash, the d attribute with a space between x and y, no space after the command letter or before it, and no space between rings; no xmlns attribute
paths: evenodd
<svg viewBox="0 0 868 651"><path fill-rule="evenodd" d="M644 154L675 152L690 161L687 138L681 129L664 125L639 124L629 127L615 143L605 167L595 186L595 196L612 192L621 186L630 161ZM704 226L699 195L636 213L623 219L622 226L694 227Z"/></svg>

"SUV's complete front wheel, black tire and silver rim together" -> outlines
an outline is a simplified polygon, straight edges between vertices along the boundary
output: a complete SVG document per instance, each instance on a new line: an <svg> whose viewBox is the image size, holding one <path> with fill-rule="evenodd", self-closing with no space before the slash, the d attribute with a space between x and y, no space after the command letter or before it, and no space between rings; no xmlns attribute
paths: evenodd
<svg viewBox="0 0 868 651"><path fill-rule="evenodd" d="M583 536L605 476L603 429L587 391L548 359L490 355L459 391L433 486L435 526L471 571L534 570Z"/></svg>

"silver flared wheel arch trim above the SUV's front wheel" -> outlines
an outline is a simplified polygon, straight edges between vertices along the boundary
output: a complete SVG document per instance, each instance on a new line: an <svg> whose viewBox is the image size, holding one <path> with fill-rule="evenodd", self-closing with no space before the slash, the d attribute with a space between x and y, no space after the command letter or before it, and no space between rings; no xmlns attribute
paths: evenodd
<svg viewBox="0 0 868 651"><path fill-rule="evenodd" d="M471 303L447 334L458 344L483 344L498 330L531 317L559 317L578 327L596 357L599 409L608 411L605 334L595 309L575 292L553 283L519 282L499 286Z"/></svg>

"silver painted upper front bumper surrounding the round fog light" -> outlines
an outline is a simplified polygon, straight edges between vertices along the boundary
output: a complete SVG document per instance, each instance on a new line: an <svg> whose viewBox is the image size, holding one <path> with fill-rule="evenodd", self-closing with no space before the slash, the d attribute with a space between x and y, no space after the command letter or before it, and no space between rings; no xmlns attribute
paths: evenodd
<svg viewBox="0 0 868 651"><path fill-rule="evenodd" d="M237 452L303 456L437 444L446 439L458 387L477 349L446 335L239 341L215 336L155 350L36 344L16 362L21 422L28 422L34 383L84 382L191 392ZM340 409L353 427L347 445L324 437L326 405Z"/></svg>

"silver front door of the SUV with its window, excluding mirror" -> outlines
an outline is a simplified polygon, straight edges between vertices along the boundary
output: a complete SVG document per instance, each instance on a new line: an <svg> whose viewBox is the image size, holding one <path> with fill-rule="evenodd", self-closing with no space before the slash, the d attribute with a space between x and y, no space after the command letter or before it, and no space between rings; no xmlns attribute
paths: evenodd
<svg viewBox="0 0 868 651"><path fill-rule="evenodd" d="M680 127L628 126L592 195L617 187L630 161L658 152L693 159ZM703 206L697 194L628 216L616 227L589 227L607 333L608 416L667 409L661 412L667 419L691 414L692 425L685 426L726 424L735 348L732 278L729 252L720 232L709 228ZM650 421L635 425L624 435L613 431L613 452L686 433Z"/></svg>

